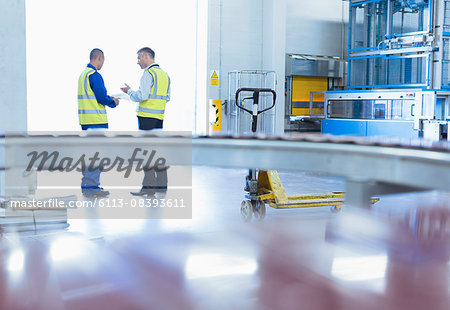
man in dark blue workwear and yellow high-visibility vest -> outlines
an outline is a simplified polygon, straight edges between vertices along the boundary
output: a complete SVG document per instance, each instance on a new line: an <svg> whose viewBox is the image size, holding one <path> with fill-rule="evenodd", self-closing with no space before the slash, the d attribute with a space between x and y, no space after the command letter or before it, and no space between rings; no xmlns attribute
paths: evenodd
<svg viewBox="0 0 450 310"><path fill-rule="evenodd" d="M115 108L119 99L107 95L105 83L98 72L105 62L103 52L95 48L90 62L78 79L78 119L82 130L106 130L108 117L105 106ZM101 167L86 167L81 180L81 191L88 198L105 197L108 191L100 187Z"/></svg>

